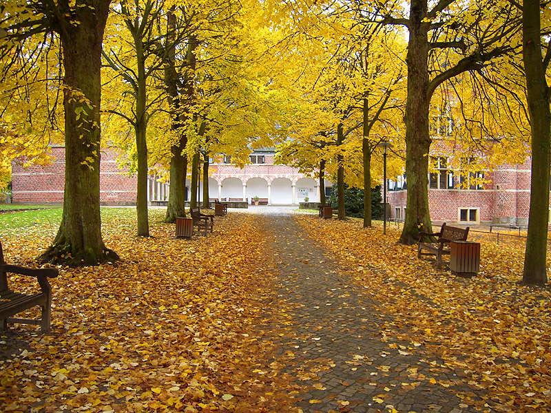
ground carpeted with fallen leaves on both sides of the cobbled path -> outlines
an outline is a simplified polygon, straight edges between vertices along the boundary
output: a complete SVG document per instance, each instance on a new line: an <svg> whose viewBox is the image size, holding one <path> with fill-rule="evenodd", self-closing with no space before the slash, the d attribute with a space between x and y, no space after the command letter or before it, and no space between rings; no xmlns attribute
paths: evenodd
<svg viewBox="0 0 551 413"><path fill-rule="evenodd" d="M122 262L61 268L50 334L0 333L2 412L299 411L300 385L259 334L288 323L262 217L231 212L216 218L213 235L188 241L158 223L162 211L151 214L149 239L134 236L133 215L104 220L105 243ZM522 244L473 233L481 273L462 279L396 244L395 226L384 236L355 220L296 219L338 271L397 316L377 339L465 371L484 394L481 411L550 411L551 294L517 285ZM6 261L31 264L51 237L41 225L3 233Z"/></svg>

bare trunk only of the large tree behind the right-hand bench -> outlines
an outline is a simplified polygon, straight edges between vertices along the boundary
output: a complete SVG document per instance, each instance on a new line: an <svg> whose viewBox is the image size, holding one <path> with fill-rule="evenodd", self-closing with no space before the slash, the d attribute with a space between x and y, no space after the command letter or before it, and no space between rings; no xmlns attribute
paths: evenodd
<svg viewBox="0 0 551 413"><path fill-rule="evenodd" d="M426 0L410 1L410 28L406 63L408 99L406 103L406 177L408 198L404 229L399 242L415 244L419 231L432 232L428 209L428 22Z"/></svg>

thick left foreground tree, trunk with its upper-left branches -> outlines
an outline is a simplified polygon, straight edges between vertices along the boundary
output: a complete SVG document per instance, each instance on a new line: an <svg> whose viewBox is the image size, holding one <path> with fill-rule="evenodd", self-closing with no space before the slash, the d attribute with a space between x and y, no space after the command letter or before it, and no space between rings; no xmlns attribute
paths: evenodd
<svg viewBox="0 0 551 413"><path fill-rule="evenodd" d="M65 195L63 218L43 261L96 265L117 260L101 237L99 209L101 47L110 0L26 1L1 7L8 35L2 59L21 52L25 39L56 33L63 51ZM43 50L49 47L43 43Z"/></svg>

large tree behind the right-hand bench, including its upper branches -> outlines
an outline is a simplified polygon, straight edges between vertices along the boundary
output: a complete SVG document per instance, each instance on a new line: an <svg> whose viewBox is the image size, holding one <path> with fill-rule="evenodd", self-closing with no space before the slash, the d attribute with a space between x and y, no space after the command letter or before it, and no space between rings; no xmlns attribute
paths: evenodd
<svg viewBox="0 0 551 413"><path fill-rule="evenodd" d="M455 0L440 0L430 3L429 9L428 0L411 0L407 18L393 17L392 5L388 3L388 11L382 10L382 23L404 25L409 31L405 114L408 199L399 242L413 244L421 229L432 228L428 209L430 99L450 78L481 70L486 62L512 52L519 16L509 3L464 7ZM429 69L435 73L432 78Z"/></svg>

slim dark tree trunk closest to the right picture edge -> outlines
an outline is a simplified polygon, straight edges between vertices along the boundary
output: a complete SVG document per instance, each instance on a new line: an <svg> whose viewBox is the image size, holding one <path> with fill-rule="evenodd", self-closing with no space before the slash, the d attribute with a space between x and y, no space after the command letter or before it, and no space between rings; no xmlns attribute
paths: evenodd
<svg viewBox="0 0 551 413"><path fill-rule="evenodd" d="M540 11L539 0L524 0L523 61L532 133L532 177L522 284L543 286L547 282L551 114L541 58Z"/></svg>

